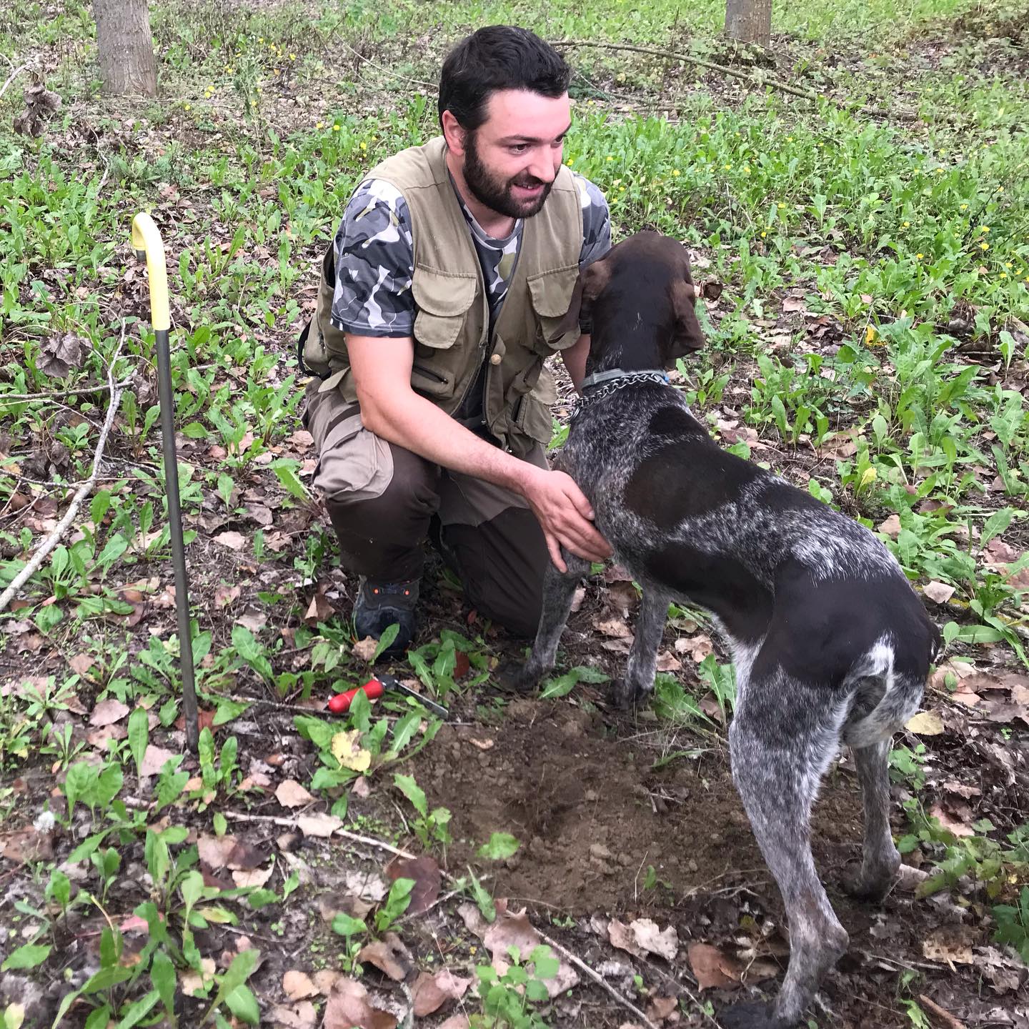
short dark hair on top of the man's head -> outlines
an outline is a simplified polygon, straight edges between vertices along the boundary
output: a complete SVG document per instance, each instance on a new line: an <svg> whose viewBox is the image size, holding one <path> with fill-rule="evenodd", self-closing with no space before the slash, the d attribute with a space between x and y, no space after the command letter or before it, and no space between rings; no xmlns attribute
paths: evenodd
<svg viewBox="0 0 1029 1029"><path fill-rule="evenodd" d="M486 120L486 105L497 90L530 90L544 97L568 92L572 70L534 32L490 25L466 36L447 55L439 75L439 123L450 111L463 129Z"/></svg>

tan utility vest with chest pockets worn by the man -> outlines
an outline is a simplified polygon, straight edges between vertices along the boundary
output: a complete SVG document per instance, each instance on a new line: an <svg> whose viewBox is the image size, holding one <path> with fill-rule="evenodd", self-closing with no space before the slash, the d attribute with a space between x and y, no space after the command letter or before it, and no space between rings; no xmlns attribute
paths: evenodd
<svg viewBox="0 0 1029 1029"><path fill-rule="evenodd" d="M490 433L523 457L552 435L554 380L543 367L551 354L578 339L577 311L570 311L582 249L582 208L571 172L562 167L539 214L522 230L514 275L489 334L483 272L447 170L447 146L437 137L374 168L403 194L411 213L417 307L411 386L447 414L456 412L489 361L483 411ZM303 341L304 363L327 376L321 389L357 391L342 330L329 320L335 288L334 252L322 260L318 307Z"/></svg>

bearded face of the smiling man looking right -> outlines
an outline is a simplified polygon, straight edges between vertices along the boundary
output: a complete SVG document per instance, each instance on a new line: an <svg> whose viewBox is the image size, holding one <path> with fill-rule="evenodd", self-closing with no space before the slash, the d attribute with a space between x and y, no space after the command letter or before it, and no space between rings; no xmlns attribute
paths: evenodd
<svg viewBox="0 0 1029 1029"><path fill-rule="evenodd" d="M531 218L543 207L561 168L571 127L568 95L501 90L486 109L486 121L465 135L464 180L491 210L508 218Z"/></svg>

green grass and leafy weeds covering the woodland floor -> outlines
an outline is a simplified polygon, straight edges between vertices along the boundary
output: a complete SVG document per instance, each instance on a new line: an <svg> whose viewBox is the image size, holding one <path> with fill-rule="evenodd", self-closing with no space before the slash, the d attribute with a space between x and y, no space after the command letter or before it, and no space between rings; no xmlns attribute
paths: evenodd
<svg viewBox="0 0 1029 1029"><path fill-rule="evenodd" d="M235 737L216 744L208 732L199 782L181 758L166 764L153 809L166 827L123 800L146 734L156 738L179 715L177 642L168 617L153 619L171 606L169 537L132 215L153 214L170 258L194 649L215 729L244 714L248 698L304 702L365 671L325 600L338 556L312 521L293 341L353 186L435 132L426 83L446 45L468 26L518 22L551 39L671 46L744 68L758 61L760 74L760 56L716 37L722 9L714 0L642 9L620 0L169 4L151 11L162 97L117 105L98 97L88 5L17 0L0 14L0 48L15 66L44 56L47 85L64 100L39 139L6 129L23 81L0 101L0 584L87 474L108 370L127 383L96 495L5 620L2 658L17 668L17 688L0 696L0 767L45 762L64 777L46 804L94 841L75 855L87 889L38 866L44 889L20 910L34 928L5 968L49 967L69 917L105 911L126 868L143 861L153 890L134 895L135 910L150 944L123 975L123 934L103 929L101 964L78 984L90 1024L115 1015L137 1024L130 1016L173 1009L176 969L204 972L198 918L245 920L284 906L296 887L286 876L275 890L198 882L185 824L225 832L213 802L246 795ZM713 431L865 524L895 516L887 542L912 580L954 590L933 608L952 652L984 663L1000 653L1010 667L1026 663L1029 626L1020 574L1029 538L1029 86L1009 38L1022 14L1014 3L985 11L962 0L777 8L774 73L824 94L817 104L660 58L572 50L579 74L565 151L604 189L616 237L643 226L675 235L698 255L701 277L725 284L708 349L679 369ZM926 38L946 45L937 52ZM870 117L865 104L895 116ZM239 540L218 541L234 533ZM411 673L441 699L470 694L495 657L476 631L427 641ZM27 655L45 659L43 674L25 678ZM463 658L470 672L459 672ZM548 696L605 677L580 665L552 680ZM657 711L708 739L723 732L734 688L711 655L696 677L663 673ZM97 764L69 721L83 697L149 711L151 724L137 715ZM438 723L423 714L358 704L333 726L299 715L316 755L309 785L346 818L356 779L431 745ZM503 718L502 706L493 717ZM348 760L363 767L342 761L342 732L354 734ZM916 799L933 742L918 746L901 748L893 766ZM677 744L664 759L682 752ZM432 846L446 820L418 795L416 828ZM27 814L12 787L0 788L0 813ZM1004 879L1024 865L1021 830L981 821L973 842L959 842L917 801L910 821L906 846L938 858L944 887L968 874L986 882L989 898L1005 901L1000 931L1024 949L1025 896ZM351 950L353 961L348 936ZM202 982L215 1021L253 1013L252 966L240 960ZM484 980L484 995L498 989ZM489 1003L513 1003L508 993Z"/></svg>

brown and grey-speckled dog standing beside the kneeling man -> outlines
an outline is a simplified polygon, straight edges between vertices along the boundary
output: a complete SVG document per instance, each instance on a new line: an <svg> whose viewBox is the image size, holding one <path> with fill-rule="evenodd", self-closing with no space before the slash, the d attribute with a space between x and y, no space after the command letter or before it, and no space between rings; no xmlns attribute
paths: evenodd
<svg viewBox="0 0 1029 1029"><path fill-rule="evenodd" d="M641 584L620 707L653 688L670 601L707 609L736 668L733 778L782 894L790 958L774 1004L734 1005L740 1029L786 1029L847 949L818 879L810 814L841 744L864 809L851 892L883 899L900 866L889 822L890 738L919 708L935 626L883 543L772 472L718 447L663 369L703 346L686 250L639 233L582 276L593 334L558 466L593 504L615 560ZM587 562L547 570L529 659L502 677L528 691L554 666Z"/></svg>

